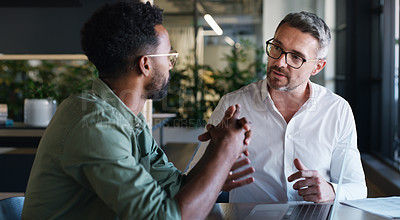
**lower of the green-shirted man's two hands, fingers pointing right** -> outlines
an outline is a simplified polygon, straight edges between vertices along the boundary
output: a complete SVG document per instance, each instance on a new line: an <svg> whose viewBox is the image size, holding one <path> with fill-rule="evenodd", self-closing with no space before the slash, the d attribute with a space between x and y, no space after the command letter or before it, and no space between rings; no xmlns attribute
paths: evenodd
<svg viewBox="0 0 400 220"><path fill-rule="evenodd" d="M224 186L222 187L222 191L225 192L229 192L232 189L235 189L237 187L241 187L250 183L254 182L254 178L253 177L248 177L246 179L242 179L242 180L238 180L244 176L247 176L251 173L254 173L254 168L253 167L249 167L246 168L244 170L241 170L239 172L234 172L235 170L246 166L250 164L250 160L249 158L245 157L242 160L236 161L232 168L231 168L231 172L229 172L228 177L226 178L226 181L224 183Z"/></svg>

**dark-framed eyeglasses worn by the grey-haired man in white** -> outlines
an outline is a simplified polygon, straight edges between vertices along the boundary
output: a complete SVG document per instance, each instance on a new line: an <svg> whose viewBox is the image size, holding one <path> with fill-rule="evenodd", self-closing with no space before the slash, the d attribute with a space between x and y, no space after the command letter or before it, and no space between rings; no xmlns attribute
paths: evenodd
<svg viewBox="0 0 400 220"><path fill-rule="evenodd" d="M296 53L293 52L286 52L284 50L282 50L282 48L274 43L272 43L274 40L274 38L269 39L266 42L266 48L265 50L267 51L267 55L269 57L271 57L272 59L279 59L282 54L285 54L285 61L287 63L287 65L295 68L295 69L299 69L303 63L307 62L307 61L318 61L319 59L314 59L314 60L306 60L303 57L297 55Z"/></svg>

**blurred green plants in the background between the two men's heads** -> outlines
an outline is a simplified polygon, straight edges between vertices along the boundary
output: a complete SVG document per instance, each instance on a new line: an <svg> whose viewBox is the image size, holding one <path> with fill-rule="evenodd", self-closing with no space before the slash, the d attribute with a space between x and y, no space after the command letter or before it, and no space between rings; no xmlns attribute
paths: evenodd
<svg viewBox="0 0 400 220"><path fill-rule="evenodd" d="M213 70L207 65L188 64L184 69L171 70L168 95L154 102L157 112L177 113L170 125L203 127L226 93L262 79L266 65L262 62L264 49L250 41L241 41L241 47L232 47L226 54L223 70ZM254 56L249 56L254 53ZM248 57L254 57L249 61Z"/></svg>

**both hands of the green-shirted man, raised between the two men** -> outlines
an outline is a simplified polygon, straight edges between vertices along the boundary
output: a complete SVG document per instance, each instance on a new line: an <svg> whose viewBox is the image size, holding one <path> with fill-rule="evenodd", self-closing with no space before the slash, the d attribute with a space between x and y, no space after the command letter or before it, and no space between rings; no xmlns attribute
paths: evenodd
<svg viewBox="0 0 400 220"><path fill-rule="evenodd" d="M233 164L231 171L229 172L222 187L222 191L230 191L234 188L254 182L253 177L242 179L243 177L254 173L253 167L248 167L239 172L235 172L239 168L250 164L250 160L247 157L243 157L243 155L249 156L247 146L251 140L251 123L246 118L239 119L239 115L240 105L236 104L234 106L230 106L226 110L223 119L217 126L207 124L207 132L198 137L200 141L208 141L210 139L211 141L228 141L230 145L229 147L232 149L232 151L236 151L238 153L237 158L243 158L237 160Z"/></svg>

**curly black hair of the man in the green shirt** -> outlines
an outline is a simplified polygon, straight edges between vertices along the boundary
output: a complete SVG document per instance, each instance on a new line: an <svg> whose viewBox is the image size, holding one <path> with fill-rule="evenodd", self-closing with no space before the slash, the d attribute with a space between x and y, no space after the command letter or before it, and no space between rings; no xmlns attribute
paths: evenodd
<svg viewBox="0 0 400 220"><path fill-rule="evenodd" d="M163 10L139 0L105 4L81 29L82 50L100 78L118 78L133 68L138 57L158 46L155 25Z"/></svg>

